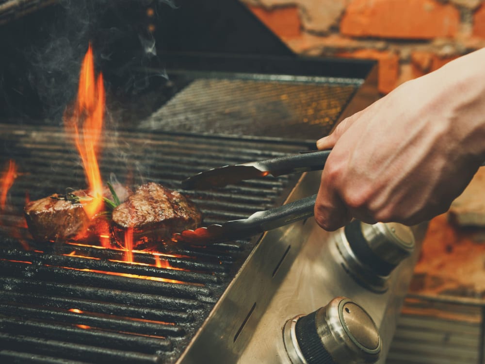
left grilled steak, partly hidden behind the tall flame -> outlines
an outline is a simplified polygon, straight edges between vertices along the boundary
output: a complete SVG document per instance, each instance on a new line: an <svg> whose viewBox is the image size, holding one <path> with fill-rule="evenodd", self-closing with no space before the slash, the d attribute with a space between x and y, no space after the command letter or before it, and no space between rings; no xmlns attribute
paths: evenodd
<svg viewBox="0 0 485 364"><path fill-rule="evenodd" d="M125 200L130 191L120 184L113 186L118 198ZM103 190L103 196L111 199L109 188ZM106 226L106 219L90 220L81 203L76 199L89 199L86 190L74 191L69 196L53 194L44 199L29 202L24 208L29 232L37 241L58 241L68 238L78 240L97 233L100 224ZM104 220L104 221L102 221Z"/></svg>

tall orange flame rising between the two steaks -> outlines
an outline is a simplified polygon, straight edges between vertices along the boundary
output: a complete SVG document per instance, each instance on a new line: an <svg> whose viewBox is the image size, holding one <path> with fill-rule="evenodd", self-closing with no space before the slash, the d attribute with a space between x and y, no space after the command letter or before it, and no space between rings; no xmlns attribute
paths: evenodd
<svg viewBox="0 0 485 364"><path fill-rule="evenodd" d="M91 200L81 201L89 218L95 216L103 208L103 183L97 163L97 154L103 130L104 110L103 76L99 73L95 82L93 50L90 45L81 66L78 99L72 115L65 115L66 127L74 130L74 141L81 156L90 194L93 197Z"/></svg>

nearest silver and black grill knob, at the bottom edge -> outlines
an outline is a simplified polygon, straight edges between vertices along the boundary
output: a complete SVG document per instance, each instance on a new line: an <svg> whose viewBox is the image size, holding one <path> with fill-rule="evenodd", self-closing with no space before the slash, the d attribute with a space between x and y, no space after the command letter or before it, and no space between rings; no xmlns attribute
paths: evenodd
<svg viewBox="0 0 485 364"><path fill-rule="evenodd" d="M371 316L344 297L289 320L283 337L293 364L371 364L382 347Z"/></svg>

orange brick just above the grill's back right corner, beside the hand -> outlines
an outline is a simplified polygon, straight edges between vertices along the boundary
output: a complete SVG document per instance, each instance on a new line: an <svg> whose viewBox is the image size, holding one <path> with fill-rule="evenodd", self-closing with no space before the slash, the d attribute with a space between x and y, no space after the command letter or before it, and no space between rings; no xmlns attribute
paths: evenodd
<svg viewBox="0 0 485 364"><path fill-rule="evenodd" d="M341 52L338 57L375 59L379 62L379 92L387 94L396 87L399 77L399 56L388 50L356 50Z"/></svg>

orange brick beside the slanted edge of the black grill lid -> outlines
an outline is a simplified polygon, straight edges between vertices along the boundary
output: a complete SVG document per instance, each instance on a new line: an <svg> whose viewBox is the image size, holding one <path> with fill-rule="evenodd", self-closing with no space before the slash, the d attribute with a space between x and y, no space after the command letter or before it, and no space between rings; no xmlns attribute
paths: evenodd
<svg viewBox="0 0 485 364"><path fill-rule="evenodd" d="M268 10L261 6L249 6L269 29L281 38L291 39L302 33L302 22L297 6L277 7Z"/></svg>

